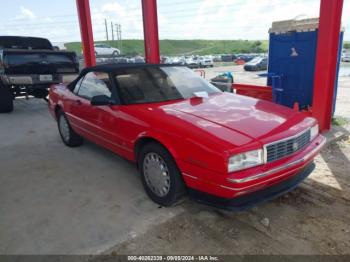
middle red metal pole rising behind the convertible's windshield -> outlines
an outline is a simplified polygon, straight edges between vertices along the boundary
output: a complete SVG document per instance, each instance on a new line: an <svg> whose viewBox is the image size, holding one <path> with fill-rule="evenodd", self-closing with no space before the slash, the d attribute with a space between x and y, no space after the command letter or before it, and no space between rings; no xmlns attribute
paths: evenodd
<svg viewBox="0 0 350 262"><path fill-rule="evenodd" d="M159 64L157 0L141 0L146 62Z"/></svg>

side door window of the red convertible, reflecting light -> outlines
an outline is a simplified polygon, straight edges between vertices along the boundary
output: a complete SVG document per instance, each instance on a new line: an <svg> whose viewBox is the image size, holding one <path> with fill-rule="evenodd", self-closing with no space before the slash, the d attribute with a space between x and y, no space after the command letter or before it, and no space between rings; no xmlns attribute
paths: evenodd
<svg viewBox="0 0 350 262"><path fill-rule="evenodd" d="M90 72L81 82L78 95L90 100L94 96L112 96L112 85L108 74L100 72Z"/></svg>

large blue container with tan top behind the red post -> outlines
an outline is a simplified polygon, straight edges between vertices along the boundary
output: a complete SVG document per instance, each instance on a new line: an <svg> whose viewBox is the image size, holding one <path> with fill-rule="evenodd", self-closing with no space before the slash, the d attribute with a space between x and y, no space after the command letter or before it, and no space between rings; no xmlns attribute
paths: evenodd
<svg viewBox="0 0 350 262"><path fill-rule="evenodd" d="M301 109L312 106L317 47L318 18L274 22L270 29L268 85L272 86L276 103ZM340 36L337 80L343 32ZM279 77L279 84L272 85ZM275 79L274 79L275 78ZM278 90L274 90L277 88Z"/></svg>

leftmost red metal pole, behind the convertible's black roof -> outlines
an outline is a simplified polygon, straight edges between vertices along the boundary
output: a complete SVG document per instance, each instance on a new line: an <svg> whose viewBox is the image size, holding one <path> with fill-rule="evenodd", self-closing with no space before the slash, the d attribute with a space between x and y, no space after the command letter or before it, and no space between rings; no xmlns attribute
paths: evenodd
<svg viewBox="0 0 350 262"><path fill-rule="evenodd" d="M96 65L89 0L76 0L85 66Z"/></svg>

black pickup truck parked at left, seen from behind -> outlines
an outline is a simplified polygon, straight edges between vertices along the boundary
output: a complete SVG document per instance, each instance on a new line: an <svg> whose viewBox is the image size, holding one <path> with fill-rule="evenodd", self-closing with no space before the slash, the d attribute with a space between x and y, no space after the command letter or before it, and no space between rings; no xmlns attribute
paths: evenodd
<svg viewBox="0 0 350 262"><path fill-rule="evenodd" d="M13 111L15 97L46 99L51 84L78 72L76 54L55 51L47 39L0 36L0 113Z"/></svg>

